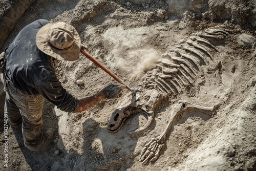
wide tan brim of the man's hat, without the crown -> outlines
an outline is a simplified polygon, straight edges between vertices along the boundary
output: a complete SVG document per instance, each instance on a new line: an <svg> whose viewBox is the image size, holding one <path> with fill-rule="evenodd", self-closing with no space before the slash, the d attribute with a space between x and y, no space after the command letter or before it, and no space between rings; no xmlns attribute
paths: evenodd
<svg viewBox="0 0 256 171"><path fill-rule="evenodd" d="M45 26L41 27L36 33L36 46L45 54L54 57L57 60L77 60L79 59L81 40L78 32L74 29L74 44L67 50L57 50L48 45L47 34L51 27L56 27L58 23L48 23ZM73 27L69 25L70 27Z"/></svg>

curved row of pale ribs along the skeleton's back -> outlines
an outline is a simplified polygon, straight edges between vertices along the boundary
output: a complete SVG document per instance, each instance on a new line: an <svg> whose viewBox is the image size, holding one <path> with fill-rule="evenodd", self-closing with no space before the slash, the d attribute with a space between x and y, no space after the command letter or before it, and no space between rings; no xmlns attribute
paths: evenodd
<svg viewBox="0 0 256 171"><path fill-rule="evenodd" d="M188 86L194 87L196 78L204 75L202 66L214 62L214 54L221 51L212 42L223 41L228 32L231 28L217 26L190 36L173 52L162 54L156 68L146 73L140 86L157 88L168 96L181 94Z"/></svg>

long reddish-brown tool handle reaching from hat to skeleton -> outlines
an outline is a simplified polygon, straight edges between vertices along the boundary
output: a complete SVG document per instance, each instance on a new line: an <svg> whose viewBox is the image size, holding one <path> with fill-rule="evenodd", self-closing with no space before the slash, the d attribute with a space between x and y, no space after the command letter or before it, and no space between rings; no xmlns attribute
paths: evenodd
<svg viewBox="0 0 256 171"><path fill-rule="evenodd" d="M93 61L93 63L95 63L96 66L98 66L99 68L101 68L103 71L105 71L106 73L108 73L110 76L112 76L115 80L117 80L119 83L123 84L125 86L126 89L130 90L133 93L136 93L136 90L132 90L131 88L129 88L120 78L118 78L115 74L113 74L108 68L106 68L105 66L102 65L102 63L100 63L97 59L95 59L92 55L90 55L86 50L84 49L80 49L80 52L88 57L88 59L90 59L91 61Z"/></svg>

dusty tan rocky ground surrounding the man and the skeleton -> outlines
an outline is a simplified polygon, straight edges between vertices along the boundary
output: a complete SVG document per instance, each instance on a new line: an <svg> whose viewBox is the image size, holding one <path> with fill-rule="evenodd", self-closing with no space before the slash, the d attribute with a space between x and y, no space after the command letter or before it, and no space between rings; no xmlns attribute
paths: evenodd
<svg viewBox="0 0 256 171"><path fill-rule="evenodd" d="M5 93L0 83L1 170L256 170L256 2L242 0L4 0L0 2L0 48L7 47L20 29L36 19L73 25L88 52L130 87L138 87L161 54L181 39L209 27L234 28L216 63L205 69L204 84L175 99L166 99L156 110L155 121L145 133L127 132L146 123L137 114L111 134L106 124L123 97L106 99L79 113L65 113L45 100L44 126L56 127L58 136L47 149L29 151L21 128L4 130ZM218 70L212 69L219 66ZM212 70L211 70L212 69ZM80 56L59 61L56 71L62 86L76 98L93 95L117 83ZM83 84L80 84L79 81ZM185 114L173 125L158 160L142 164L144 144L162 133L173 103L184 99L204 106L218 106L212 117ZM5 152L8 147L8 153Z"/></svg>

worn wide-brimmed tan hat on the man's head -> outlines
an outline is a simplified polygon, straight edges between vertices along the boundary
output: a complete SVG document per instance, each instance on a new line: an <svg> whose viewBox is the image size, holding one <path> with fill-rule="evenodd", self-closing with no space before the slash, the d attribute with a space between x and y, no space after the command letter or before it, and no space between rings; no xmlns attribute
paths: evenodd
<svg viewBox="0 0 256 171"><path fill-rule="evenodd" d="M48 23L36 33L36 46L57 60L79 59L81 40L76 29L66 23Z"/></svg>

